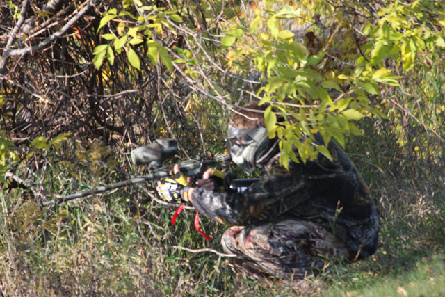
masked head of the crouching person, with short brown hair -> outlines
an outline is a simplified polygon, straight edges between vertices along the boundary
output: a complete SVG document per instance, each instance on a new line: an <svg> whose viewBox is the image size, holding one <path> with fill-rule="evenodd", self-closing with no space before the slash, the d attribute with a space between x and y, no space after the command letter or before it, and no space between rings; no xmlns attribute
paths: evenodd
<svg viewBox="0 0 445 297"><path fill-rule="evenodd" d="M264 110L268 105L250 102L239 109L229 121L229 136L226 141L230 147L232 161L252 173L257 164L268 161L275 141L266 135Z"/></svg>

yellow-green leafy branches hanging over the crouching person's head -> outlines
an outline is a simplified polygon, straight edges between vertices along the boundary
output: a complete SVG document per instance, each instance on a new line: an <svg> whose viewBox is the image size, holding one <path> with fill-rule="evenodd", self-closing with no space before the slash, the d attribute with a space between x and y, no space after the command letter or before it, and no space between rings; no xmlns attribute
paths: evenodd
<svg viewBox="0 0 445 297"><path fill-rule="evenodd" d="M394 72L409 72L414 67L414 57L428 59L435 51L442 51L444 33L438 30L444 22L441 3L413 1L406 5L396 1L379 10L378 3L366 7L355 1L342 1L341 5L323 1L314 4L312 18L317 27L307 29L304 38L299 38L296 33L305 24L296 28L289 25L304 14L300 6L277 9L278 4L271 1L256 7L254 19L248 15L240 17L234 10L236 16L222 24L227 33L220 39L221 51L211 54L204 49L204 42L196 33L187 29L189 23L177 24L182 20L181 16L186 15L186 9L172 10L142 6L141 3L134 6L138 17L124 10L119 13L119 25L111 30L112 33L104 35L116 36L115 50L120 52L124 47L129 63L138 70L139 58L131 48L133 39L129 40L129 36L136 38L138 45L145 40L145 51L154 65L163 63L172 75L192 83L207 81L207 88L214 90L213 95L220 102L235 99L233 96L225 99L225 94L230 95L228 90L218 90L215 82L221 75L231 74L224 71L215 74L213 69L202 65L214 64L219 70L229 67L236 75L253 69L259 76L254 97L261 99L261 104L269 102L276 106L284 116L280 126L276 122L267 126L270 137L281 139L280 147L284 149L281 161L285 166L289 159L297 160L289 149L292 145L297 145L303 161L314 159L318 152L328 154L323 147L314 150L312 141L304 140L313 139L314 133L320 133L325 143L334 138L344 146L344 134L360 134L354 121L366 115L384 116L374 97L380 95L382 86L398 85L398 79L403 76ZM431 18L430 15L437 17ZM116 17L115 8L104 15L99 29L113 16ZM138 23L134 26L136 19ZM357 27L362 30L360 39L355 32ZM183 45L186 49L175 46L176 51L172 51L160 39L168 35L186 40ZM346 42L351 44L352 36L355 45L345 45ZM206 40L212 40L212 37L209 34ZM340 41L342 38L343 42ZM323 47L315 45L314 40L321 42ZM337 45L332 40L341 43ZM213 38L213 47L215 42L217 40ZM97 46L95 59L102 61L104 51L109 48L109 45ZM188 53L186 59L177 58L172 63L172 58L184 53ZM193 60L187 61L192 57ZM227 57L227 64L224 57ZM180 65L186 61L186 70L182 72ZM95 65L99 67L101 63Z"/></svg>

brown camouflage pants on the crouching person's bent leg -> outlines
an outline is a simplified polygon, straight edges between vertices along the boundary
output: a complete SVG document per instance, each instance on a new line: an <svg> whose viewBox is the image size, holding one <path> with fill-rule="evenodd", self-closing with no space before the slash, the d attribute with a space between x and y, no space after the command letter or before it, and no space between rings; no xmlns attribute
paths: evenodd
<svg viewBox="0 0 445 297"><path fill-rule="evenodd" d="M283 279L318 274L328 263L350 259L344 243L321 224L284 219L259 226L234 226L223 234L223 249L251 278Z"/></svg>

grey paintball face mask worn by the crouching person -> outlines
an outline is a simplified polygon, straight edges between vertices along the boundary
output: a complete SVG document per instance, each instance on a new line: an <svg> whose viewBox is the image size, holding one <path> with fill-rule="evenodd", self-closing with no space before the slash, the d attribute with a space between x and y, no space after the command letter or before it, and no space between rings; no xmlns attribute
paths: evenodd
<svg viewBox="0 0 445 297"><path fill-rule="evenodd" d="M270 139L265 127L236 129L229 126L229 137L226 138L230 147L232 161L250 174L257 166L257 160L270 148Z"/></svg>

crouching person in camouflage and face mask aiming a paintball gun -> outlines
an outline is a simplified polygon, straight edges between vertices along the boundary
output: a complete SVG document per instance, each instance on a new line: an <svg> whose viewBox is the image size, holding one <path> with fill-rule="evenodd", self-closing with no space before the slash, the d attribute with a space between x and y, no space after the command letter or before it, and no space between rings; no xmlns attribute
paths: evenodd
<svg viewBox="0 0 445 297"><path fill-rule="evenodd" d="M251 102L246 109L264 111ZM200 214L232 225L221 239L234 264L252 278L283 279L317 274L330 262L373 255L378 246L378 216L364 179L341 148L330 142L333 161L318 159L280 165L279 139L266 136L264 113L240 110L229 122L232 161L257 182L241 193L212 191L211 172L184 188ZM316 136L317 144L323 144ZM298 150L293 148L298 156Z"/></svg>

